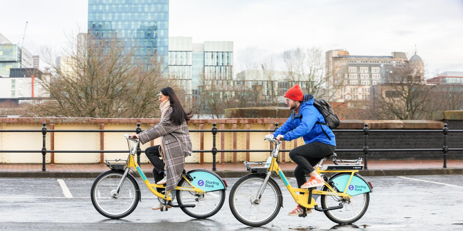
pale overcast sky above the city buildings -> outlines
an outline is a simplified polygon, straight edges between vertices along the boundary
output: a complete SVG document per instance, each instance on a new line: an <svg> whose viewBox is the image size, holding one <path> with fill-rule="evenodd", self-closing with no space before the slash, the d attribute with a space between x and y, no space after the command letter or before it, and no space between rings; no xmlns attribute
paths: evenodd
<svg viewBox="0 0 463 231"><path fill-rule="evenodd" d="M87 0L0 0L0 33L24 46L62 47L64 32L87 29ZM318 46L350 55L418 55L430 72L463 71L463 0L170 0L169 36L233 41L235 66L285 49Z"/></svg>

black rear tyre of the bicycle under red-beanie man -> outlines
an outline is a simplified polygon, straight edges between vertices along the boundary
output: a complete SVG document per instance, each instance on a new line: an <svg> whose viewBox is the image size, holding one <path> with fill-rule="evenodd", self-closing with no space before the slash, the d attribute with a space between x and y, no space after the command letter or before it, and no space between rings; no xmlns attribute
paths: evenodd
<svg viewBox="0 0 463 231"><path fill-rule="evenodd" d="M332 180L332 179L334 179L334 178L336 178L336 177L339 177L339 176L343 176L343 175L350 175L350 173L336 174L336 175L330 177L330 180ZM358 175L358 174L355 174L355 175L356 175L356 176L360 176L360 175ZM323 186L323 188L322 188L321 190L322 190L322 191L330 191L330 190L328 189L328 187L326 187L326 186ZM336 191L338 191L338 190L336 190ZM359 196L359 197L357 197L357 196ZM355 198L355 197L360 198L360 196L363 196L364 202L363 202L362 210L361 210L360 213L358 213L356 216L354 216L354 217L352 217L352 218L350 218L350 219L338 219L338 218L334 215L334 213L336 213L336 211L337 211L337 212L340 212L340 211L342 211L342 210L348 209L348 208L345 206L345 203L343 204L344 207L341 208L341 209L335 209L335 210L324 211L325 216L326 216L328 219L330 219L332 222L335 222L335 223L338 223L338 224L352 224L352 223L356 222L357 220L361 219L361 218L363 217L363 215L367 212L367 209L368 209L368 206L369 206L369 201L370 201L370 195L369 195L369 193L363 193L363 194L359 194L359 195L353 196L352 199ZM321 195L321 196L320 196L320 201L321 201L320 203L321 203L322 208L324 208L324 209L327 208L327 207L329 207L329 206L327 205L328 197L334 197L334 196L331 196L331 195ZM352 200L352 199L350 199L350 200Z"/></svg>

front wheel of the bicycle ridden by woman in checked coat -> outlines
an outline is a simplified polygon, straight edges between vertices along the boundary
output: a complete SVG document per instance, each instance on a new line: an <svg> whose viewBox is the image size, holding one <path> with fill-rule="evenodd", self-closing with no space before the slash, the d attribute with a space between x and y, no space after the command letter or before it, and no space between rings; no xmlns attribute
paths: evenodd
<svg viewBox="0 0 463 231"><path fill-rule="evenodd" d="M119 190L113 195L124 172L109 170L103 172L93 182L90 197L95 209L103 216L119 219L128 216L138 205L140 192L137 182L126 176Z"/></svg>

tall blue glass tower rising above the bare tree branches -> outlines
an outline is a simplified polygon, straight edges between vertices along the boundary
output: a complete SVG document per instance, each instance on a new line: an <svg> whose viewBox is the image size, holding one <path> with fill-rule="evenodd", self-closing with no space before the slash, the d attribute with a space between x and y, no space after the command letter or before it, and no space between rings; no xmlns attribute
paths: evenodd
<svg viewBox="0 0 463 231"><path fill-rule="evenodd" d="M88 33L118 38L147 62L168 62L169 0L88 0Z"/></svg>

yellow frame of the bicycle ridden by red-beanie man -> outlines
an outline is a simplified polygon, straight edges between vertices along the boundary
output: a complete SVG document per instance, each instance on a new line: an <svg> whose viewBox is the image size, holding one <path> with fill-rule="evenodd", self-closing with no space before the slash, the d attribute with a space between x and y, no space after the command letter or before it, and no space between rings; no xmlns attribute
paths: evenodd
<svg viewBox="0 0 463 231"><path fill-rule="evenodd" d="M269 140L269 139L266 139L266 140ZM270 166L268 168L268 172L267 172L267 175L266 175L266 177L264 179L264 182L263 182L261 188L259 188L257 198L260 198L262 196L263 189L265 188L265 185L266 185L267 181L269 180L270 175L272 174L272 172L275 172L275 174L283 181L283 183L286 185L286 188L288 189L289 193L293 197L294 201L298 205L300 205L302 207L305 207L305 208L313 208L314 206L318 205L313 198L309 203L309 196L311 197L312 195L332 195L332 196L339 196L339 197L342 197L344 199L352 198L352 196L348 195L345 192L347 191L347 187L349 186L350 181L352 180L352 176L354 176L354 173L358 172L358 170L320 170L321 163L324 160L324 159L322 159L319 162L319 164L317 164L317 168L316 168L317 173L324 173L324 172L336 172L336 173L348 172L348 173L350 173L349 181L347 182L346 188L344 188L343 193L336 192L327 182L325 182L325 186L330 191L309 190L309 189L306 189L306 188L293 188L291 186L291 184L289 184L286 176L284 175L282 169L280 168L280 166L278 165L278 163L276 161L277 157L278 157L278 154L279 154L279 149L280 149L282 141L276 141L276 140L275 141L269 140L269 141L275 143L275 148L273 149L272 154L270 155L271 164L270 164ZM310 191L312 191L312 192L310 192ZM296 192L302 192L304 194L296 194Z"/></svg>

